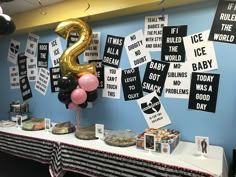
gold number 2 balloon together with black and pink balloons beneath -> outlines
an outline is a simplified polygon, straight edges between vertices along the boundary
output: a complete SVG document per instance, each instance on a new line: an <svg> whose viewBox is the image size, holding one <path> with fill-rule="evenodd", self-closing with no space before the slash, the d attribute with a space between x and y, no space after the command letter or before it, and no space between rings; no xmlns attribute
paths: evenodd
<svg viewBox="0 0 236 177"><path fill-rule="evenodd" d="M75 110L78 106L86 108L87 102L93 102L97 98L99 81L95 63L78 64L77 56L90 44L92 30L80 19L68 19L61 22L55 32L65 39L69 38L71 32L79 34L78 41L68 47L60 57L62 77L58 81L58 99L68 105L70 110Z"/></svg>

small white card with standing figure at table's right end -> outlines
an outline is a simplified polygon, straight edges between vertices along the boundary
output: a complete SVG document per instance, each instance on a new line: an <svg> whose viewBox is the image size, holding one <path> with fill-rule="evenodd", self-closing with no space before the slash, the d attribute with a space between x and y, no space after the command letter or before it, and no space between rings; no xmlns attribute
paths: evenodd
<svg viewBox="0 0 236 177"><path fill-rule="evenodd" d="M195 136L195 144L198 153L207 154L209 150L209 138L204 136Z"/></svg>

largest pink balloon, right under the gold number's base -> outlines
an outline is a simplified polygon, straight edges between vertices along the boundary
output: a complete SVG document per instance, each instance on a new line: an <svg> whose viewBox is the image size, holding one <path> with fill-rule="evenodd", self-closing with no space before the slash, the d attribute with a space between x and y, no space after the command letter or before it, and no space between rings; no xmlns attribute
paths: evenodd
<svg viewBox="0 0 236 177"><path fill-rule="evenodd" d="M99 82L95 75L85 74L78 79L78 84L80 88L87 92L91 92L97 89Z"/></svg>

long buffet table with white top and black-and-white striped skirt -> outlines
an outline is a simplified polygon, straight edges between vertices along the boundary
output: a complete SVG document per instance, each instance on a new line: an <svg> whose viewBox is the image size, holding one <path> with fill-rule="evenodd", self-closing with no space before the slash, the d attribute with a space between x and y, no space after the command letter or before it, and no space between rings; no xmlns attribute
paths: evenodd
<svg viewBox="0 0 236 177"><path fill-rule="evenodd" d="M195 153L195 144L180 141L172 154L114 147L102 140L80 140L73 133L24 131L0 127L0 151L49 165L52 177L66 171L95 177L227 177L224 150L209 147L206 158Z"/></svg>

